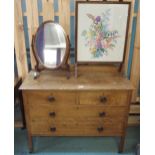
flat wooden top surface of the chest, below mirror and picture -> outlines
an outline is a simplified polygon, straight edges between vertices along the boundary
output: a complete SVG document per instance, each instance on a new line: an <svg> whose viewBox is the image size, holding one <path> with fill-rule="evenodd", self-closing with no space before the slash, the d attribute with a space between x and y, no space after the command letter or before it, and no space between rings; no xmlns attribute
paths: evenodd
<svg viewBox="0 0 155 155"><path fill-rule="evenodd" d="M42 71L37 79L33 78L31 71L25 78L21 90L118 90L133 89L129 80L116 73L83 73L74 77L71 73L70 79L62 71Z"/></svg>

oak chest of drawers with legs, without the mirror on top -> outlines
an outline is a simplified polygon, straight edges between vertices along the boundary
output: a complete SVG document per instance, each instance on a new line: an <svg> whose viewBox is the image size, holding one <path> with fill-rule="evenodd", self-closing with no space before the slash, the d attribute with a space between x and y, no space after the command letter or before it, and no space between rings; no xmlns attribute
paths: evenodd
<svg viewBox="0 0 155 155"><path fill-rule="evenodd" d="M119 136L123 151L132 86L122 76L65 76L32 72L21 86L29 149L33 136Z"/></svg>

